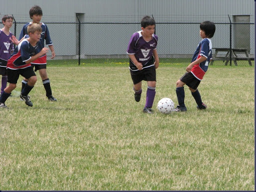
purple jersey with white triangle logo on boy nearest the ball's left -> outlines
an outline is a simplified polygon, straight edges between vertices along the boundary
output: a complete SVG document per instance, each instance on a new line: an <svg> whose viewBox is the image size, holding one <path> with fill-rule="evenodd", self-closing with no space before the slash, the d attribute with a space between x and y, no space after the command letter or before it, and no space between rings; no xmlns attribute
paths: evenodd
<svg viewBox="0 0 256 192"><path fill-rule="evenodd" d="M143 68L151 67L154 64L149 61L153 56L153 50L156 49L158 37L152 34L152 39L147 42L143 39L141 32L135 32L130 37L127 54L133 54L136 60L143 65ZM149 63L150 65L148 65Z"/></svg>

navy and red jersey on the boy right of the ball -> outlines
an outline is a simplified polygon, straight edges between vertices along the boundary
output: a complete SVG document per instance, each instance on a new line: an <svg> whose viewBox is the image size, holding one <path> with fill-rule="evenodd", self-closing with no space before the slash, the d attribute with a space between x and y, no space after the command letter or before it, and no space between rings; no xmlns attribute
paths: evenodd
<svg viewBox="0 0 256 192"><path fill-rule="evenodd" d="M202 80L204 74L208 69L208 64L210 62L210 59L212 58L211 52L212 52L211 40L209 38L202 39L199 42L191 61L193 62L199 59L200 57L206 57L205 61L194 65L193 68L191 69L191 73L198 80Z"/></svg>

